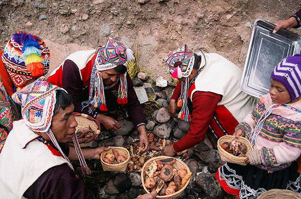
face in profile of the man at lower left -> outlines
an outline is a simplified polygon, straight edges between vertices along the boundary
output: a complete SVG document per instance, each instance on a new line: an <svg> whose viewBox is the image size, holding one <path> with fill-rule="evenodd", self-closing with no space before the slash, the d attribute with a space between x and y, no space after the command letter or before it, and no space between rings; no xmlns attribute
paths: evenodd
<svg viewBox="0 0 301 199"><path fill-rule="evenodd" d="M52 117L50 129L59 143L66 143L75 135L77 122L72 114L73 109L73 104L65 110L60 108L58 113Z"/></svg>

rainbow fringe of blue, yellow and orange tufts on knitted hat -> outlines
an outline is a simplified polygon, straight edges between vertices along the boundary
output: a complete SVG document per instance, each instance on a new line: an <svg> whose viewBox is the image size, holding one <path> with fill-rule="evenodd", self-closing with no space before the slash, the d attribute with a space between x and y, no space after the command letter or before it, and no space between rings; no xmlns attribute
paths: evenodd
<svg viewBox="0 0 301 199"><path fill-rule="evenodd" d="M19 31L13 34L14 40L23 44L21 52L22 57L25 59L26 69L31 72L33 77L39 77L44 74L43 59L41 58L42 51L40 44L37 42L32 34L23 33Z"/></svg>

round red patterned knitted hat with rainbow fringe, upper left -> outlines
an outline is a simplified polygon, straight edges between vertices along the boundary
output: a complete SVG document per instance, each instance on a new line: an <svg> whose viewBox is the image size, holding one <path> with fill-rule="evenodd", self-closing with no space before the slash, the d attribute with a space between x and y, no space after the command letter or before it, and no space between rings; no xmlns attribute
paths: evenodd
<svg viewBox="0 0 301 199"><path fill-rule="evenodd" d="M41 38L19 31L7 42L1 59L18 87L48 72L50 52Z"/></svg>

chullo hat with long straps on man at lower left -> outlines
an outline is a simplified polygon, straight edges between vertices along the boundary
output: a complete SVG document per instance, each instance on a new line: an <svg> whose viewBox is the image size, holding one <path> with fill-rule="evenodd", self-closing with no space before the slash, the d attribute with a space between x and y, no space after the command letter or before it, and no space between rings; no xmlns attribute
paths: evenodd
<svg viewBox="0 0 301 199"><path fill-rule="evenodd" d="M21 112L26 126L33 132L47 133L54 146L60 151L63 157L69 161L50 129L56 103L57 90L64 89L52 85L44 76L42 76L33 83L23 87L20 91L14 93L12 98L15 102L21 104ZM79 156L82 169L84 173L89 174L90 170L84 161L84 156L79 147L77 136L73 136L72 139L76 152Z"/></svg>

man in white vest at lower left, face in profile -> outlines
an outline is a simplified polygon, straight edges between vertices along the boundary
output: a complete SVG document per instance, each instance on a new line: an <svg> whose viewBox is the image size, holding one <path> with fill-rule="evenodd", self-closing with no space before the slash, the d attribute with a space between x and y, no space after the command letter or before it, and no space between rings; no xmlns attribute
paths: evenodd
<svg viewBox="0 0 301 199"><path fill-rule="evenodd" d="M95 199L69 160L79 160L89 174L84 158L99 160L109 148L79 148L74 106L67 92L41 77L12 98L21 104L23 119L14 123L0 153L0 198ZM70 139L75 148L66 144ZM153 192L139 199L155 196Z"/></svg>

